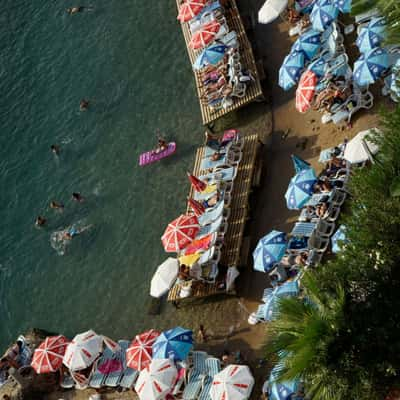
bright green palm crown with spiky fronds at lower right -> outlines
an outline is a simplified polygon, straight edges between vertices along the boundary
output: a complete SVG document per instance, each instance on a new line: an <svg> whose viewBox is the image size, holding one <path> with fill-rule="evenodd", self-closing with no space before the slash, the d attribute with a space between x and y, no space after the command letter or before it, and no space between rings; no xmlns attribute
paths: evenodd
<svg viewBox="0 0 400 400"><path fill-rule="evenodd" d="M268 347L282 367L278 380L303 379L310 399L345 398L346 383L331 360L344 325L344 290L338 285L323 291L310 272L301 282L306 297L280 299L278 318L268 327Z"/></svg>

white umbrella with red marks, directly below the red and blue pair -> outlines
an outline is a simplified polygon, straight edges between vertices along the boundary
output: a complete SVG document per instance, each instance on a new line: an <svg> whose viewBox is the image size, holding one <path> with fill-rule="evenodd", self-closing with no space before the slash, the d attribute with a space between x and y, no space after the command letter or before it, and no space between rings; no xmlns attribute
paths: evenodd
<svg viewBox="0 0 400 400"><path fill-rule="evenodd" d="M140 400L164 400L171 392L178 375L174 363L169 359L152 360L140 372L135 392Z"/></svg>

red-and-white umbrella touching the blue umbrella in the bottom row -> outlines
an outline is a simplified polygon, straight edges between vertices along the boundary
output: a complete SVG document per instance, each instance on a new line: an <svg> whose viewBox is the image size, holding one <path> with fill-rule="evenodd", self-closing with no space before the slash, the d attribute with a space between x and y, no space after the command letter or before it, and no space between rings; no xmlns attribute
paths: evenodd
<svg viewBox="0 0 400 400"><path fill-rule="evenodd" d="M160 336L160 332L154 329L136 335L126 350L126 365L137 371L146 368L151 363L152 346L158 336Z"/></svg>

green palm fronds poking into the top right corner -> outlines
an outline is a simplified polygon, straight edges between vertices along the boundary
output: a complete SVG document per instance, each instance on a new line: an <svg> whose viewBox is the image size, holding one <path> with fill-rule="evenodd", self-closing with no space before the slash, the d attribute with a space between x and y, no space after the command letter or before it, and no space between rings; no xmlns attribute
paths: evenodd
<svg viewBox="0 0 400 400"><path fill-rule="evenodd" d="M378 8L388 26L388 44L400 43L400 2L398 0L353 0L352 13L359 14Z"/></svg>

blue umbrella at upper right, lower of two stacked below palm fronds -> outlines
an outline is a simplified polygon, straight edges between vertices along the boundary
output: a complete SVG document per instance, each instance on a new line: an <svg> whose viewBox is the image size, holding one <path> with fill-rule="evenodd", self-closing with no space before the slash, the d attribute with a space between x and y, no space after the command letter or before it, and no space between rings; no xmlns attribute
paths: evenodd
<svg viewBox="0 0 400 400"><path fill-rule="evenodd" d="M354 80L358 86L374 83L389 67L389 55L385 49L376 47L361 56L354 63Z"/></svg>

